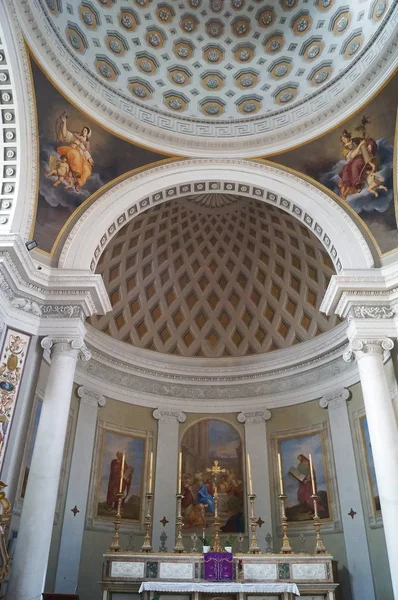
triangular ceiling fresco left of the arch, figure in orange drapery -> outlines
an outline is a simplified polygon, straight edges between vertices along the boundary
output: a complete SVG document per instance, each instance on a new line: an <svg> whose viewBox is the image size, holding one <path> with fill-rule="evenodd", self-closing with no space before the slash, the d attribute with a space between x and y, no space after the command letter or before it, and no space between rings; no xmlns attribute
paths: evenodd
<svg viewBox="0 0 398 600"><path fill-rule="evenodd" d="M74 211L124 173L166 158L125 142L78 111L32 61L39 129L39 194L32 237L47 253Z"/></svg>

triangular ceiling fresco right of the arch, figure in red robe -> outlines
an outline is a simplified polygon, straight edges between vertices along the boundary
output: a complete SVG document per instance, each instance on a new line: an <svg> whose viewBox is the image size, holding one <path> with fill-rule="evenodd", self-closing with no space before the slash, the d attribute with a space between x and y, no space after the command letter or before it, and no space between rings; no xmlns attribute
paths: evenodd
<svg viewBox="0 0 398 600"><path fill-rule="evenodd" d="M271 157L323 184L364 221L382 253L398 247L394 202L398 77L361 112L319 139Z"/></svg>

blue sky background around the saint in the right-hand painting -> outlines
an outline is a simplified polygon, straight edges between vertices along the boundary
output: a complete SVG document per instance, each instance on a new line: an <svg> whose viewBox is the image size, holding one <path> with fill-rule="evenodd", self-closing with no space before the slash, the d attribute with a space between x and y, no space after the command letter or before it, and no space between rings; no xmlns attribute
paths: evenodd
<svg viewBox="0 0 398 600"><path fill-rule="evenodd" d="M298 482L288 472L290 467L297 468L297 456L299 454L304 454L307 458L309 458L310 454L312 455L317 489L318 491L327 491L325 470L322 461L322 442L319 433L280 440L279 452L282 461L283 485L285 494L287 495L286 506L294 506L298 502Z"/></svg>

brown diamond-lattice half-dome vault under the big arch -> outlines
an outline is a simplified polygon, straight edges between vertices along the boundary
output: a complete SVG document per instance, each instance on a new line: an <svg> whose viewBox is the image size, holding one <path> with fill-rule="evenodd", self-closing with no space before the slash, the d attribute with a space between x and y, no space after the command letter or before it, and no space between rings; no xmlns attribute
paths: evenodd
<svg viewBox="0 0 398 600"><path fill-rule="evenodd" d="M319 311L334 273L321 243L256 200L199 196L152 208L113 238L97 272L113 310L91 324L158 352L258 354L338 323Z"/></svg>

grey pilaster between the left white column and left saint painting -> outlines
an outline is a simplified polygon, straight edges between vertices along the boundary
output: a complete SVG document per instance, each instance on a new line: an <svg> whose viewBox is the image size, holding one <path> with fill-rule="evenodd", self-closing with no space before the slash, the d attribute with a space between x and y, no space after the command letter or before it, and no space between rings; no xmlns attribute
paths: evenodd
<svg viewBox="0 0 398 600"><path fill-rule="evenodd" d="M73 594L77 588L98 407L105 406L104 396L83 386L77 394L79 415L55 577L55 592L60 594ZM75 506L78 513L73 512Z"/></svg>

